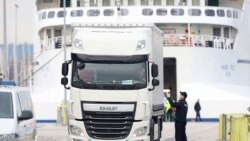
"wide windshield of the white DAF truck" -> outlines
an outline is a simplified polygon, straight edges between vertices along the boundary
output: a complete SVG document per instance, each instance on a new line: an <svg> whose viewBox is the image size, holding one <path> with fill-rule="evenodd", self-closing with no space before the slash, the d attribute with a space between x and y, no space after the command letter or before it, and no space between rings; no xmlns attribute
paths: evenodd
<svg viewBox="0 0 250 141"><path fill-rule="evenodd" d="M146 62L83 63L74 61L72 86L84 89L142 89L147 86Z"/></svg>

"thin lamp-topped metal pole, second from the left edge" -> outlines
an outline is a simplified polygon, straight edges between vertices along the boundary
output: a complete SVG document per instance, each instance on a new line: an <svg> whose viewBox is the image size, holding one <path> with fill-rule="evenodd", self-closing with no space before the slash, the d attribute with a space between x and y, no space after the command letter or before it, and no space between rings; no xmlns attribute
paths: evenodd
<svg viewBox="0 0 250 141"><path fill-rule="evenodd" d="M16 15L15 15L15 45L14 45L14 49L13 49L13 55L14 55L13 66L14 66L14 81L16 83L18 83L18 76L17 76L18 75L17 74L17 53L16 53L16 49L17 49L17 9L19 8L19 6L17 4L15 4L15 8L16 8Z"/></svg>

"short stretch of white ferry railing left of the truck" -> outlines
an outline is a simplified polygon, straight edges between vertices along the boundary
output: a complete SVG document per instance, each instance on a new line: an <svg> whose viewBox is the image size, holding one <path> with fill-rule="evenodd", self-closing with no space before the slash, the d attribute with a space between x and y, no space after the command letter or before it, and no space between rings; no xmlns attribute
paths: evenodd
<svg viewBox="0 0 250 141"><path fill-rule="evenodd" d="M66 37L66 46L70 46L71 42L68 40L69 37ZM41 41L41 47L43 50L51 50L51 49L61 49L63 47L64 39L62 36L48 38Z"/></svg>

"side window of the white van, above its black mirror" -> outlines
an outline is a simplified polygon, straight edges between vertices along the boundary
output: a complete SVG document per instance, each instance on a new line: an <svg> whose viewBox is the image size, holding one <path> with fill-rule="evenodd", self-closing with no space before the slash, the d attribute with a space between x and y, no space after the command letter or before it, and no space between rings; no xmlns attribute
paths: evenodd
<svg viewBox="0 0 250 141"><path fill-rule="evenodd" d="M20 92L18 93L19 99L20 99L20 103L21 103L21 107L22 107L22 111L32 111L33 107L32 107L32 103L31 103L31 99L29 96L28 92Z"/></svg>

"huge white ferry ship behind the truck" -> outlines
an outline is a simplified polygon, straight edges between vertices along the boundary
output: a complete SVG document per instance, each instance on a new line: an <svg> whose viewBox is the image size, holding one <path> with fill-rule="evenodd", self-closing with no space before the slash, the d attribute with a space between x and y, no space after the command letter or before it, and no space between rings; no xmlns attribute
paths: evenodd
<svg viewBox="0 0 250 141"><path fill-rule="evenodd" d="M250 0L36 1L33 100L38 120L53 121L63 102L60 84L63 21L67 58L72 23L154 23L164 34L164 88L188 93L188 118L201 102L204 120L250 107ZM68 95L69 96L69 95Z"/></svg>

